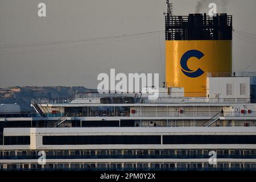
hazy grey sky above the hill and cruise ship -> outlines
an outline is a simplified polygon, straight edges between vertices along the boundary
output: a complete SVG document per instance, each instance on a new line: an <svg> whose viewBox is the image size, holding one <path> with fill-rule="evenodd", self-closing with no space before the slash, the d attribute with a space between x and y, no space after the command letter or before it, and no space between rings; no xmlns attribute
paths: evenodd
<svg viewBox="0 0 256 182"><path fill-rule="evenodd" d="M38 3L47 16L38 17ZM174 0L174 13L196 13L196 0ZM218 13L233 15L233 68L256 71L256 1L212 0ZM208 3L200 13L208 12ZM0 0L0 87L97 87L98 73L165 75L164 32L129 38L106 37L163 31L165 0ZM244 33L247 32L247 33ZM104 38L84 41L88 38ZM65 44L42 44L78 40ZM18 46L18 47L17 47ZM20 47L21 46L21 47ZM9 48L4 48L9 47Z"/></svg>

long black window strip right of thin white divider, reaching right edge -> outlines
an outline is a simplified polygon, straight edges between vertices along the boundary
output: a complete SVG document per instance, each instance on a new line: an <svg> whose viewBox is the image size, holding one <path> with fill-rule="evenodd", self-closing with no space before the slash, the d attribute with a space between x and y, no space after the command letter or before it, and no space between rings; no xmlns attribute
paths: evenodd
<svg viewBox="0 0 256 182"><path fill-rule="evenodd" d="M256 135L164 135L163 144L256 144Z"/></svg>

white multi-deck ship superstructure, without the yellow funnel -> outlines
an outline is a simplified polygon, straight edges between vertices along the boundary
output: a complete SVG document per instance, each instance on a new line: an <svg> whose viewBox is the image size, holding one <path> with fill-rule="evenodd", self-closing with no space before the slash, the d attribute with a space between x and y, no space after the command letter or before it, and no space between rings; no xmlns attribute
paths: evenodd
<svg viewBox="0 0 256 182"><path fill-rule="evenodd" d="M208 97L162 88L156 100L142 93L33 100L37 113L1 114L1 169L255 170L250 80L210 77Z"/></svg>

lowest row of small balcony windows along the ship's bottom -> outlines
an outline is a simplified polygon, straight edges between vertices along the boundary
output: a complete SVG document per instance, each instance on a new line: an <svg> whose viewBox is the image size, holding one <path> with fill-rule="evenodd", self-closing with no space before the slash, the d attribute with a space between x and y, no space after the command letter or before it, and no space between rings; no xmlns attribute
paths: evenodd
<svg viewBox="0 0 256 182"><path fill-rule="evenodd" d="M40 164L1 164L0 169L256 169L256 163L48 163Z"/></svg>

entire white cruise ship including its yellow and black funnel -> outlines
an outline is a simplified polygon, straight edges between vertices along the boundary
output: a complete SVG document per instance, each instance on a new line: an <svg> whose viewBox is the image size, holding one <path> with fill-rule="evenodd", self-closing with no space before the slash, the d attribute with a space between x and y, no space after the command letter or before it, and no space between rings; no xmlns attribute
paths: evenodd
<svg viewBox="0 0 256 182"><path fill-rule="evenodd" d="M75 93L3 110L0 170L255 171L256 73L232 71L232 16L168 3L165 18L158 98Z"/></svg>

